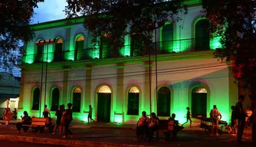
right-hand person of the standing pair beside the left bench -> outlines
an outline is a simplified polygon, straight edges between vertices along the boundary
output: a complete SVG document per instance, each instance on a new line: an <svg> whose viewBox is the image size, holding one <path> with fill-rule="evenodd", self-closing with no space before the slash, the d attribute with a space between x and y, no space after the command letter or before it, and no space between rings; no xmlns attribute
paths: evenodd
<svg viewBox="0 0 256 147"><path fill-rule="evenodd" d="M62 138L66 139L67 138L67 134L71 134L71 138L73 138L73 133L71 132L71 130L68 128L69 125L71 124L72 120L73 120L73 110L71 109L72 103L67 103L67 109L65 110L65 112L63 113L63 117L64 117L64 128L65 128L65 136L63 136Z"/></svg>

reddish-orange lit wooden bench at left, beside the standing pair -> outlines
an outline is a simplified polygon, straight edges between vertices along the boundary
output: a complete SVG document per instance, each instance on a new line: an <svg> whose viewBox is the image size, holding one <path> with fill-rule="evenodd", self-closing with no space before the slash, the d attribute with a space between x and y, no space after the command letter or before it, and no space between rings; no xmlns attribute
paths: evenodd
<svg viewBox="0 0 256 147"><path fill-rule="evenodd" d="M31 125L22 125L32 127L32 131L37 130L39 132L44 132L44 126L46 124L45 118L32 118Z"/></svg>

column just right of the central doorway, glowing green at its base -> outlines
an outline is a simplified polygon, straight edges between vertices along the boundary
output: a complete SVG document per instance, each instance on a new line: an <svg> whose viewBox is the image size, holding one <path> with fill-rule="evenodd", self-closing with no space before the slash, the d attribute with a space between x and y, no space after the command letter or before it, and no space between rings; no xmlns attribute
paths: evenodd
<svg viewBox="0 0 256 147"><path fill-rule="evenodd" d="M123 100L125 100L125 96L123 94L123 72L124 72L124 64L117 64L117 99L116 99L116 115L114 118L114 122L122 123L124 121L123 117Z"/></svg>

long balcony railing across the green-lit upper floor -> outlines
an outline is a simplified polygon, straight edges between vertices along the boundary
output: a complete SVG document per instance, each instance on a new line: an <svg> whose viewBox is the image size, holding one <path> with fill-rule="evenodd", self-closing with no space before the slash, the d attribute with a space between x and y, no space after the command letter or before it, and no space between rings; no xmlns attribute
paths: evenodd
<svg viewBox="0 0 256 147"><path fill-rule="evenodd" d="M120 57L133 57L139 54L139 51L146 51L146 54L172 54L183 51L202 51L209 50L209 39L183 39L176 41L161 41L153 42L152 44L141 46L124 45L120 49ZM144 55L146 55L144 53ZM92 59L107 59L116 57L113 56L110 48L98 47L95 49L86 48L78 51L62 51L61 53L51 52L48 54L26 54L22 57L23 63L41 63L42 60L48 62L61 62L66 60L92 60Z"/></svg>

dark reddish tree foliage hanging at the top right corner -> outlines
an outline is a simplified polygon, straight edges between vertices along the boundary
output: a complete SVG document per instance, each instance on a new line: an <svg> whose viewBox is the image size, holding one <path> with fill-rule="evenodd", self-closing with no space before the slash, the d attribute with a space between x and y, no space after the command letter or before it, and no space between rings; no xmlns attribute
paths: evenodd
<svg viewBox="0 0 256 147"><path fill-rule="evenodd" d="M256 1L202 0L202 6L211 22L210 32L222 37L223 48L214 56L232 62L236 81L243 81L242 87L256 92Z"/></svg>

